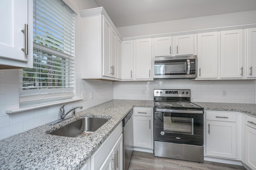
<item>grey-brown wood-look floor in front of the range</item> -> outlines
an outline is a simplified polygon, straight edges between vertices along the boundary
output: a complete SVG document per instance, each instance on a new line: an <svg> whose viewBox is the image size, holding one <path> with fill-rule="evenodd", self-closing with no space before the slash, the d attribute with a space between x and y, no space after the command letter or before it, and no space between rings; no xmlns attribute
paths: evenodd
<svg viewBox="0 0 256 170"><path fill-rule="evenodd" d="M128 170L246 170L243 166L204 161L204 163L155 157L133 151Z"/></svg>

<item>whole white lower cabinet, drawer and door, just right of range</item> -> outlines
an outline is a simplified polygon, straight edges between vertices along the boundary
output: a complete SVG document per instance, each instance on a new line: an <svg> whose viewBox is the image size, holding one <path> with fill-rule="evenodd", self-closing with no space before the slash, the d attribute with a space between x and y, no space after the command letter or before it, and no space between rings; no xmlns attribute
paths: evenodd
<svg viewBox="0 0 256 170"><path fill-rule="evenodd" d="M236 159L236 113L206 111L206 155Z"/></svg>

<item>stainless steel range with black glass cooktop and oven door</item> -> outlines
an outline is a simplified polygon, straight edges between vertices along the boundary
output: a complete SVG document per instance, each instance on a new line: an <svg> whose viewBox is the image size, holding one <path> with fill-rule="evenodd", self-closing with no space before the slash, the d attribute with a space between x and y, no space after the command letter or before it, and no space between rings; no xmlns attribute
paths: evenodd
<svg viewBox="0 0 256 170"><path fill-rule="evenodd" d="M190 90L154 90L154 156L204 162L204 108Z"/></svg>

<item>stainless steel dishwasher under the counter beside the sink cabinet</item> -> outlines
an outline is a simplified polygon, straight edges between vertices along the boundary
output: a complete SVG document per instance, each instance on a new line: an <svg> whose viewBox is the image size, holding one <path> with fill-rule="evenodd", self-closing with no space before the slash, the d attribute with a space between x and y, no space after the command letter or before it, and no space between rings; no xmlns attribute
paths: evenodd
<svg viewBox="0 0 256 170"><path fill-rule="evenodd" d="M123 119L123 170L128 170L133 152L132 113L131 110Z"/></svg>

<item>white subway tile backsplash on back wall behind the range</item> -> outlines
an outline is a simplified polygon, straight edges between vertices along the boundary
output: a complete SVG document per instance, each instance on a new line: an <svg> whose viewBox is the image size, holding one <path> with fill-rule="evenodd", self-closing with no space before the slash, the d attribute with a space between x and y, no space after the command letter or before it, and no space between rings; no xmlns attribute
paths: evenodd
<svg viewBox="0 0 256 170"><path fill-rule="evenodd" d="M153 100L153 90L158 88L191 89L192 102L255 103L255 80L114 82L114 99ZM227 90L227 96L222 96L222 90Z"/></svg>

